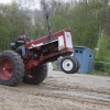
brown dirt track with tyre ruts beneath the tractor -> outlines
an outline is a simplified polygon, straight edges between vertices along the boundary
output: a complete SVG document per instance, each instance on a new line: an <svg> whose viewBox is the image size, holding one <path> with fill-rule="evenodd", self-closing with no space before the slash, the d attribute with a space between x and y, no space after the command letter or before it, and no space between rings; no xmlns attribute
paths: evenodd
<svg viewBox="0 0 110 110"><path fill-rule="evenodd" d="M0 110L110 110L110 77L53 72L40 86L0 85Z"/></svg>

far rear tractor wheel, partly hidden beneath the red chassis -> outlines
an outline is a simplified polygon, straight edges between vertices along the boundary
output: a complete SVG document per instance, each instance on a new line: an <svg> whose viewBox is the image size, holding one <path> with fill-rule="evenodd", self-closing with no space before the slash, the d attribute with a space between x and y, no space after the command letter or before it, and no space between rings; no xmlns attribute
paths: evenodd
<svg viewBox="0 0 110 110"><path fill-rule="evenodd" d="M37 67L25 70L23 81L26 84L38 85L47 76L47 65L38 65Z"/></svg>

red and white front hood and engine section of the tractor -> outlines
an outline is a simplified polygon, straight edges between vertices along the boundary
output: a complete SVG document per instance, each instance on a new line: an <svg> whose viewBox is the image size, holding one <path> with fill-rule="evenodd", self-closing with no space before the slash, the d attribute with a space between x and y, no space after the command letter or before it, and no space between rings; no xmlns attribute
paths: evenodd
<svg viewBox="0 0 110 110"><path fill-rule="evenodd" d="M30 52L33 52L34 59L41 57L43 62L56 61L58 56L70 55L74 51L72 34L67 30L29 42L25 46Z"/></svg>

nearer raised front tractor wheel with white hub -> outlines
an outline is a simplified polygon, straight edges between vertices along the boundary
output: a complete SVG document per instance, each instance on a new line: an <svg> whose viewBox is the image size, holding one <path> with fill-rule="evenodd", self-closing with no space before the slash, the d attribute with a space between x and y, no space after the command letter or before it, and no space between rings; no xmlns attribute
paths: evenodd
<svg viewBox="0 0 110 110"><path fill-rule="evenodd" d="M77 62L73 56L65 56L61 62L61 67L66 74L75 74Z"/></svg>

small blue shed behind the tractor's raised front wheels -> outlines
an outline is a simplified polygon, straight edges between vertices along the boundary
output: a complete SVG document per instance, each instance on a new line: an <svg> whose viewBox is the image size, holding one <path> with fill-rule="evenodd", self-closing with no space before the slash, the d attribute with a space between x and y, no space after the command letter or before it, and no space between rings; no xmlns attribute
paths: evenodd
<svg viewBox="0 0 110 110"><path fill-rule="evenodd" d="M95 52L85 46L75 46L74 56L80 62L79 73L91 73Z"/></svg>

